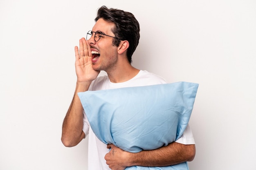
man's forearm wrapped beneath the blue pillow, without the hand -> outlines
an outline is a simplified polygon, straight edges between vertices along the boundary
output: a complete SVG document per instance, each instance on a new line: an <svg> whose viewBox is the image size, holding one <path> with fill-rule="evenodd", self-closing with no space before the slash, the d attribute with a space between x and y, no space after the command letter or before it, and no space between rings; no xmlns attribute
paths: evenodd
<svg viewBox="0 0 256 170"><path fill-rule="evenodd" d="M156 150L144 150L131 154L129 166L170 166L192 161L194 157L195 145L173 142Z"/></svg>

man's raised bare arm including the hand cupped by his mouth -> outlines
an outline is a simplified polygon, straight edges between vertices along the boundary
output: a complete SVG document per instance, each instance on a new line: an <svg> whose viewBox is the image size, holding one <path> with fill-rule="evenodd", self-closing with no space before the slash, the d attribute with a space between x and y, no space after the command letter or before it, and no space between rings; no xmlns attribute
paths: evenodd
<svg viewBox="0 0 256 170"><path fill-rule="evenodd" d="M77 93L88 91L91 82L99 75L99 71L92 69L92 53L90 45L85 38L79 40L79 49L80 51L75 46L76 90L62 126L61 141L67 147L76 146L85 138L85 133L83 132L83 106Z"/></svg>

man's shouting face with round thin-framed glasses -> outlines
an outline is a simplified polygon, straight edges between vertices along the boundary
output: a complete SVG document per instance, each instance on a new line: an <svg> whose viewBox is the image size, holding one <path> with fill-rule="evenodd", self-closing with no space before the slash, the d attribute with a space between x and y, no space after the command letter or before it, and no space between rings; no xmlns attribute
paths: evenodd
<svg viewBox="0 0 256 170"><path fill-rule="evenodd" d="M100 18L92 28L93 32L101 31L106 35L115 37L111 29L115 26L112 22L106 22ZM88 40L92 51L92 68L97 71L113 71L117 64L117 46L113 46L112 37L101 35L99 41L94 41L93 33L92 37ZM98 54L99 53L99 54Z"/></svg>

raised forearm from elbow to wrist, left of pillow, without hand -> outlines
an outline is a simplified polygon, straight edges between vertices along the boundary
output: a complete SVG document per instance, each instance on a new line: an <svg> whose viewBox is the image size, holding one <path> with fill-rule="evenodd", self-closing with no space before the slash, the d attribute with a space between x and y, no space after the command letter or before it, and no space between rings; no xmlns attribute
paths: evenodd
<svg viewBox="0 0 256 170"><path fill-rule="evenodd" d="M87 91L90 84L76 83L74 97L63 121L61 141L67 147L76 146L84 137L83 106L77 93Z"/></svg>

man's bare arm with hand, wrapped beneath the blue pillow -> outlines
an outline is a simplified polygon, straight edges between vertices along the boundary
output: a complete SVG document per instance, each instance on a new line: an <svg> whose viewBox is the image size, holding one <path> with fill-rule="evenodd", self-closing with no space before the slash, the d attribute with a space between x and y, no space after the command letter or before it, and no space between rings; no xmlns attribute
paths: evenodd
<svg viewBox="0 0 256 170"><path fill-rule="evenodd" d="M192 161L195 157L195 145L183 145L177 142L155 150L143 150L130 153L113 144L109 144L110 152L106 154L106 163L111 169L124 170L129 166L170 166Z"/></svg>

